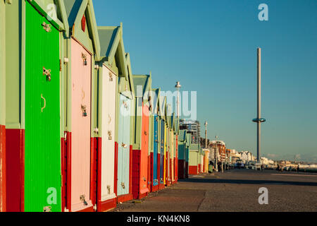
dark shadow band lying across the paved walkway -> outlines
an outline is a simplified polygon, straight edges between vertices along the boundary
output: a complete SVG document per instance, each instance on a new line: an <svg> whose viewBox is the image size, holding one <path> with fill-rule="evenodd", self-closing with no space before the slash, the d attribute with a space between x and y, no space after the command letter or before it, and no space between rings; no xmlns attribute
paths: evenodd
<svg viewBox="0 0 317 226"><path fill-rule="evenodd" d="M188 178L188 179L179 179L179 182L211 183L211 184L271 184L271 185L317 186L317 182L285 182L285 181L254 180L254 179L250 180L250 179Z"/></svg>

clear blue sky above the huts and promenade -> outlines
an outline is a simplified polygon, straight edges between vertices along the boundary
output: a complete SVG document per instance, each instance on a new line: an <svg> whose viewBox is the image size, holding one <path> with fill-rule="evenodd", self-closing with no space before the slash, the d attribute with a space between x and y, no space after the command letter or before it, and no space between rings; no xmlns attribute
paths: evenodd
<svg viewBox="0 0 317 226"><path fill-rule="evenodd" d="M98 25L123 22L135 74L197 91L208 137L256 155L256 48L262 48L261 153L317 162L317 1L93 0ZM268 5L268 21L258 19Z"/></svg>

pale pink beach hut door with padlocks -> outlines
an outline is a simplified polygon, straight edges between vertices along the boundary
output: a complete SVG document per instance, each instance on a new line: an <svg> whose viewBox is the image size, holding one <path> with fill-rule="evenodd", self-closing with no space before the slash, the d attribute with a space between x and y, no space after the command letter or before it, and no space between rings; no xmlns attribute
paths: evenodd
<svg viewBox="0 0 317 226"><path fill-rule="evenodd" d="M71 40L71 211L92 206L90 198L90 102L92 56Z"/></svg>

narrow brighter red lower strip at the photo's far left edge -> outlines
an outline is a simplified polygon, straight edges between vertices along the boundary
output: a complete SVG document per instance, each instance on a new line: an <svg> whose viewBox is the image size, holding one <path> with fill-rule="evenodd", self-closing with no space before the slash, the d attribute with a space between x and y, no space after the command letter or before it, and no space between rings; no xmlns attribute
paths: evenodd
<svg viewBox="0 0 317 226"><path fill-rule="evenodd" d="M0 212L6 212L6 126L0 125Z"/></svg>

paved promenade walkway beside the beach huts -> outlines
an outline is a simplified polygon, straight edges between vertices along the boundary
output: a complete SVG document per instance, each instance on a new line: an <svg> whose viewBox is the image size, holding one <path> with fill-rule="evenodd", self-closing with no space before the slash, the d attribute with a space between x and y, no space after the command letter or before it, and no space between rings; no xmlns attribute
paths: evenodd
<svg viewBox="0 0 317 226"><path fill-rule="evenodd" d="M259 204L261 187L268 189L267 205ZM202 174L112 211L317 211L317 174L252 169Z"/></svg>

